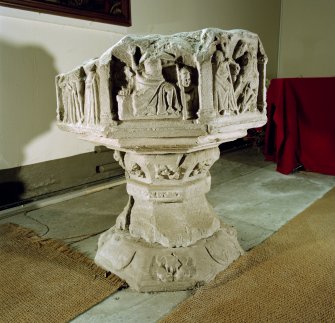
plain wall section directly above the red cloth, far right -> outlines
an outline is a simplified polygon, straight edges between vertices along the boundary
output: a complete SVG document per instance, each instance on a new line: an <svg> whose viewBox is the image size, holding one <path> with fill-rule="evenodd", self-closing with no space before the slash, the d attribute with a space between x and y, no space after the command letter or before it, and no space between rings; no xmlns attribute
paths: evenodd
<svg viewBox="0 0 335 323"><path fill-rule="evenodd" d="M335 76L334 14L334 0L282 0L279 77Z"/></svg>

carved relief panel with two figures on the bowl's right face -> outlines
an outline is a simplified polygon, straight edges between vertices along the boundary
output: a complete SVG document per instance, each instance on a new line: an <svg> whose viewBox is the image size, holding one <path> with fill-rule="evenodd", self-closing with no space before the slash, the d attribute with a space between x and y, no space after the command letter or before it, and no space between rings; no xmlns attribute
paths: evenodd
<svg viewBox="0 0 335 323"><path fill-rule="evenodd" d="M258 60L265 57L258 42L228 35L213 45L213 105L219 115L238 115L257 109ZM263 71L261 71L263 72Z"/></svg>

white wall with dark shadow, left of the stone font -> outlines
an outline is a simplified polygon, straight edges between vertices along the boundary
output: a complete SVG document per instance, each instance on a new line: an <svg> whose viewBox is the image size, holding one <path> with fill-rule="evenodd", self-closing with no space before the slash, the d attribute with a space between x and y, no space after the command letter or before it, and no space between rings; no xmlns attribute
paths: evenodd
<svg viewBox="0 0 335 323"><path fill-rule="evenodd" d="M0 30L0 168L92 151L56 127L54 78L122 35L4 16Z"/></svg>

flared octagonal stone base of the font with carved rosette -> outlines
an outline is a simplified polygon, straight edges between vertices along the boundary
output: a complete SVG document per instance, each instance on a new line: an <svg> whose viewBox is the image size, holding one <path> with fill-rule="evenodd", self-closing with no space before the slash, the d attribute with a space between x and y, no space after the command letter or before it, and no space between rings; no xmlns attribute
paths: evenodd
<svg viewBox="0 0 335 323"><path fill-rule="evenodd" d="M116 227L100 236L98 246L95 261L141 292L191 289L212 280L243 253L236 231L224 224L189 247L147 243Z"/></svg>

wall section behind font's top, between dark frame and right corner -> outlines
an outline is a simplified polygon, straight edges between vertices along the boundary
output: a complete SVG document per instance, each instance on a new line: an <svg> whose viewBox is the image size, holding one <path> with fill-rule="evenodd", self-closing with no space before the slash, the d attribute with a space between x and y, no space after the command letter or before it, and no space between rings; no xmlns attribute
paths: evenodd
<svg viewBox="0 0 335 323"><path fill-rule="evenodd" d="M277 74L281 0L132 0L130 33L171 34L207 27L257 33Z"/></svg>

